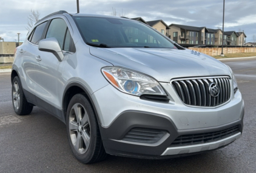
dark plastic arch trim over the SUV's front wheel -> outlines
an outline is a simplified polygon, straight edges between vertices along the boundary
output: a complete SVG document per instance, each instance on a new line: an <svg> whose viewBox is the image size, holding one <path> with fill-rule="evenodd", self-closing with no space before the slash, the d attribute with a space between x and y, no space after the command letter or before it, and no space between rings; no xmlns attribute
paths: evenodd
<svg viewBox="0 0 256 173"><path fill-rule="evenodd" d="M79 93L85 93L86 98L89 100L90 104L92 105L98 124L101 125L101 121L98 116L98 111L91 97L91 94L89 90L86 87L84 87L84 85L80 82L70 82L64 90L63 97L62 97L62 112L63 112L65 122L66 122L66 116L67 116L67 106L69 106L69 102L72 99L72 97L75 96L75 94L79 94Z"/></svg>

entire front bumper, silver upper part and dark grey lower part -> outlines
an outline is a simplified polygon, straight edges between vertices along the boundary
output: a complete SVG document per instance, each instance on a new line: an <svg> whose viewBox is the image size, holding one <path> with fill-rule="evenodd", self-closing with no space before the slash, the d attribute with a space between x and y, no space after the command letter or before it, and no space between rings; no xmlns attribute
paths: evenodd
<svg viewBox="0 0 256 173"><path fill-rule="evenodd" d="M169 158L197 154L229 145L243 131L244 103L241 93L217 108L194 108L181 103L168 83L161 83L169 103L141 100L107 85L92 94L99 116L103 145L108 154L136 158ZM239 132L198 145L170 146L180 135L202 134L238 126ZM155 143L124 140L133 128L159 129L167 133Z"/></svg>

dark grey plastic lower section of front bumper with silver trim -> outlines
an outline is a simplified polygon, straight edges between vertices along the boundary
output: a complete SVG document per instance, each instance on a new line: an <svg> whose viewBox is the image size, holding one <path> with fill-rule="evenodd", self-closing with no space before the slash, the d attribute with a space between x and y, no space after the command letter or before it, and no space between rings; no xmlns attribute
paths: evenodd
<svg viewBox="0 0 256 173"><path fill-rule="evenodd" d="M181 135L202 134L221 131L238 126L239 132L216 142L201 143L199 145L186 145L172 147L171 143ZM155 143L140 143L124 140L127 133L134 128L159 129L166 131L160 140ZM118 116L107 128L100 126L103 144L108 154L136 157L136 158L171 158L182 155L197 154L229 145L241 136L243 119L235 122L200 129L178 130L172 120L160 114L142 111L125 111Z"/></svg>

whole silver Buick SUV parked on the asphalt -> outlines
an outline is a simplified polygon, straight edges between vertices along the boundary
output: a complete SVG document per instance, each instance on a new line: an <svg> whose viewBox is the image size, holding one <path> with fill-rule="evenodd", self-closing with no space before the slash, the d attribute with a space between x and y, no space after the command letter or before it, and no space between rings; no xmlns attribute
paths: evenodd
<svg viewBox="0 0 256 173"><path fill-rule="evenodd" d="M39 106L66 123L82 163L198 154L243 130L231 68L113 16L58 11L38 21L16 49L12 98L18 115Z"/></svg>

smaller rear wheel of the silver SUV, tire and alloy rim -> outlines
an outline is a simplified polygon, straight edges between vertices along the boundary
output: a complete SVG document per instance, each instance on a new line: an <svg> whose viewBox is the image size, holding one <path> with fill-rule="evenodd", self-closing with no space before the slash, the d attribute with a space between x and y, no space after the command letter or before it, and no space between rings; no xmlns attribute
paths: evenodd
<svg viewBox="0 0 256 173"><path fill-rule="evenodd" d="M12 82L12 102L13 109L19 116L30 114L33 109L33 105L27 102L22 90L21 80L16 76Z"/></svg>

